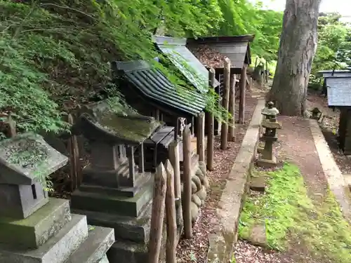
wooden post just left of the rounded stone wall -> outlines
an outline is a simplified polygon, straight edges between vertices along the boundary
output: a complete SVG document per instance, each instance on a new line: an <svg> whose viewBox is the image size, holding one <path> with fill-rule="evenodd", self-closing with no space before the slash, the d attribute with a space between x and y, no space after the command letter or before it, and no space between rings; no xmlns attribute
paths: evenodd
<svg viewBox="0 0 351 263"><path fill-rule="evenodd" d="M192 199L192 152L191 152L191 131L189 126L183 130L183 220L185 238L192 238L192 217L190 202Z"/></svg>

